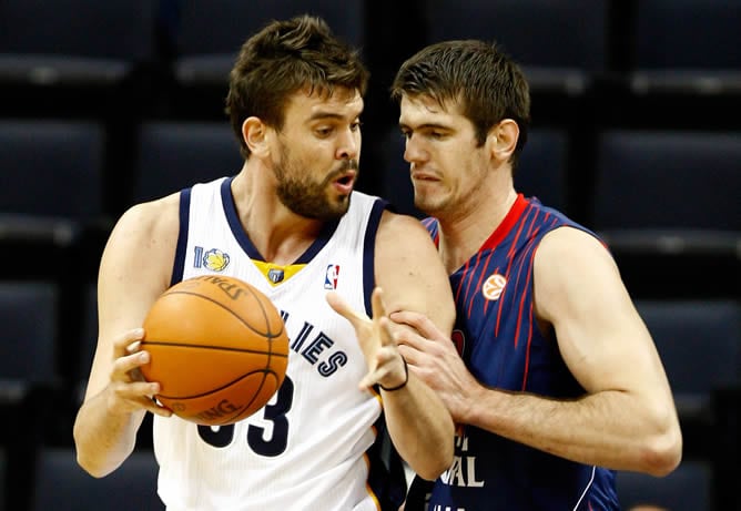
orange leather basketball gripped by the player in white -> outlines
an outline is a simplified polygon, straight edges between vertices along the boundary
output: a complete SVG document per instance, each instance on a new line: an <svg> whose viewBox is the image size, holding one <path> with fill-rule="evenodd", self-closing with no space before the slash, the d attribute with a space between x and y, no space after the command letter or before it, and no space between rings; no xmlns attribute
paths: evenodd
<svg viewBox="0 0 741 511"><path fill-rule="evenodd" d="M288 336L262 292L233 277L202 276L164 292L144 319L142 366L159 402L182 419L224 426L250 417L283 384Z"/></svg>

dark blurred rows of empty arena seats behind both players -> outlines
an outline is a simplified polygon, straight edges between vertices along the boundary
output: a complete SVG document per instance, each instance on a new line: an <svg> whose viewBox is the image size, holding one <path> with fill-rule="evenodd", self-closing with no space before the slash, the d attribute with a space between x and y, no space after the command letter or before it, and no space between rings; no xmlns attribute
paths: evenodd
<svg viewBox="0 0 741 511"><path fill-rule="evenodd" d="M372 72L359 190L417 216L398 65L479 38L524 67L516 186L610 244L680 411L682 464L619 473L622 504L741 509L741 0L1 0L0 509L162 509L148 425L112 476L74 461L98 262L132 204L238 172L233 59L303 12Z"/></svg>

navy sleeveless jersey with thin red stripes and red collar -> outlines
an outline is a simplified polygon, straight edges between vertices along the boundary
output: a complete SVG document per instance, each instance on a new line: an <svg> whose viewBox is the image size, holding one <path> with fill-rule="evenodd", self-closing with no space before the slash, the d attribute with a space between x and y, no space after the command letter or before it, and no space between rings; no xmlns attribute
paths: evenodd
<svg viewBox="0 0 741 511"><path fill-rule="evenodd" d="M437 222L424 223L437 243ZM518 195L478 253L450 276L457 316L453 339L468 369L488 387L564 399L585 392L554 333L540 333L532 310L536 249L547 233L562 226L593 235L536 198ZM418 484L424 487L415 480L410 499L423 493ZM435 481L427 509L597 511L619 505L613 471L464 425L456 435L455 461Z"/></svg>

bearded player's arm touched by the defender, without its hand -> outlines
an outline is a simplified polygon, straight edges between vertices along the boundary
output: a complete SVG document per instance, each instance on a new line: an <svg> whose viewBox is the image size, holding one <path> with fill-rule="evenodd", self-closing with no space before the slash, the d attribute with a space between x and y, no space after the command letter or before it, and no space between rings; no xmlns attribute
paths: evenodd
<svg viewBox="0 0 741 511"><path fill-rule="evenodd" d="M376 238L375 274L387 313L419 311L450 335L455 305L448 277L429 235L416 219L384 213ZM453 460L453 421L443 401L412 371L406 387L382 390L382 397L402 457L420 477L437 478Z"/></svg>

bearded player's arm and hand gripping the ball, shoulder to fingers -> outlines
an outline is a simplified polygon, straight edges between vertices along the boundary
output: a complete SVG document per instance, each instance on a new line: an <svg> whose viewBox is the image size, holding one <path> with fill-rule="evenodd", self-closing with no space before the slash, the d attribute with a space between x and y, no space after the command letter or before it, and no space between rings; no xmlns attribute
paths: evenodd
<svg viewBox="0 0 741 511"><path fill-rule="evenodd" d="M95 477L115 470L132 452L159 385L136 378L148 354L129 346L170 285L177 236L177 197L129 209L108 241L98 276L99 336L85 397L74 422L78 462Z"/></svg>

